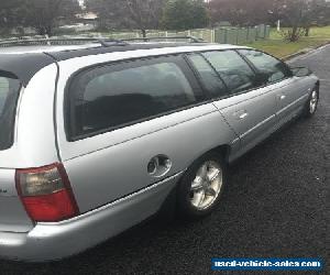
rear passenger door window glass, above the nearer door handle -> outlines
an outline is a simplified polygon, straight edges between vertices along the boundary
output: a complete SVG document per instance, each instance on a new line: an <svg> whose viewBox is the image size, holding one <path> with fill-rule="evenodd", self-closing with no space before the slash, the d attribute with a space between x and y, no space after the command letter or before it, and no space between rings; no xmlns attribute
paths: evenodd
<svg viewBox="0 0 330 275"><path fill-rule="evenodd" d="M231 94L254 87L255 74L243 58L233 51L208 52L204 56L219 73Z"/></svg>

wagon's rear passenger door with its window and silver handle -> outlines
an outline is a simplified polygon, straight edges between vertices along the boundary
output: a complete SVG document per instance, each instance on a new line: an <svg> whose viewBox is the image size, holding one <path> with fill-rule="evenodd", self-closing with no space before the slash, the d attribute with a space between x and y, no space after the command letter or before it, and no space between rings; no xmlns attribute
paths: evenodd
<svg viewBox="0 0 330 275"><path fill-rule="evenodd" d="M253 68L234 51L206 52L202 56L228 88L229 96L215 105L240 136L242 153L274 130L274 91L262 87Z"/></svg>

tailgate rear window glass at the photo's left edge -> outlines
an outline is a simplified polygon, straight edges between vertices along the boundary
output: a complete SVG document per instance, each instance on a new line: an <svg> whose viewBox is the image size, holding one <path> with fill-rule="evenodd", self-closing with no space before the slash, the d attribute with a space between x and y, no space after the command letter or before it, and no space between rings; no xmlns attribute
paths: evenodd
<svg viewBox="0 0 330 275"><path fill-rule="evenodd" d="M15 106L20 81L8 73L0 72L0 150L7 150L13 142Z"/></svg>

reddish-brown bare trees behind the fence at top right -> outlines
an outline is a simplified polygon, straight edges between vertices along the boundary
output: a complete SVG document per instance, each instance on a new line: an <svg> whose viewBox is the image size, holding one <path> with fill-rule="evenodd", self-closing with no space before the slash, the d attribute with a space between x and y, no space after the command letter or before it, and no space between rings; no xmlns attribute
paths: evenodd
<svg viewBox="0 0 330 275"><path fill-rule="evenodd" d="M288 41L308 36L312 24L326 23L330 18L327 0L211 0L209 10L212 24L229 21L234 25L274 24L280 20L289 26L284 32Z"/></svg>

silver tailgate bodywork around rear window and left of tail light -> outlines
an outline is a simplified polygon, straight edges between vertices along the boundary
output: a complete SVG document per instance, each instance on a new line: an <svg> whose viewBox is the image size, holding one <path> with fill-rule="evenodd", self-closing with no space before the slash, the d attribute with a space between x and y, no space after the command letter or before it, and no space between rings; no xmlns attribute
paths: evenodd
<svg viewBox="0 0 330 275"><path fill-rule="evenodd" d="M20 92L14 142L0 151L0 232L28 232L34 224L15 188L15 169L58 162L54 128L57 68L50 65Z"/></svg>

